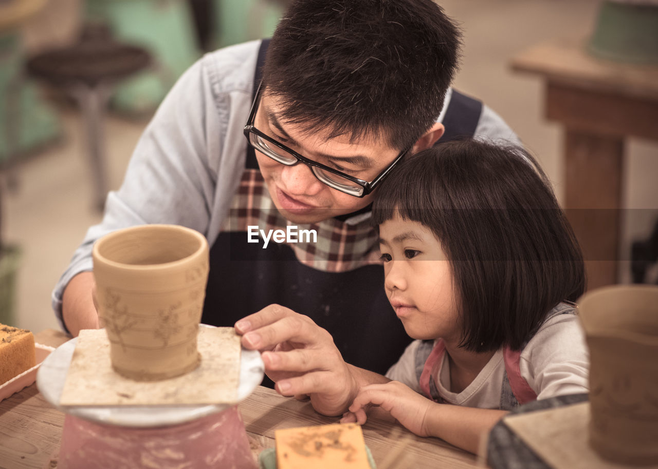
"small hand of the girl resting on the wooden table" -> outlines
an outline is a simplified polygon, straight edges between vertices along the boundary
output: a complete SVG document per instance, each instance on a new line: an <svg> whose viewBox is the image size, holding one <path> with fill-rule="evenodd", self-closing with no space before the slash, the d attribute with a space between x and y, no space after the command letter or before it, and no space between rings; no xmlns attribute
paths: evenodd
<svg viewBox="0 0 658 469"><path fill-rule="evenodd" d="M428 415L434 403L401 382L363 386L341 422L365 424L366 409L369 405L378 405L410 432L418 436L430 436L427 428Z"/></svg>

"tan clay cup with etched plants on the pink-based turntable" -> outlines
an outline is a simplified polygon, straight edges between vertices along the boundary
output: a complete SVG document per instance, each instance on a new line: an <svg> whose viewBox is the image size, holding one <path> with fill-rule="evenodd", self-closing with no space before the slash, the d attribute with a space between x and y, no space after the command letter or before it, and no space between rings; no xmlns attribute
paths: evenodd
<svg viewBox="0 0 658 469"><path fill-rule="evenodd" d="M177 225L130 227L96 242L96 298L116 372L163 380L199 365L208 256L205 237Z"/></svg>

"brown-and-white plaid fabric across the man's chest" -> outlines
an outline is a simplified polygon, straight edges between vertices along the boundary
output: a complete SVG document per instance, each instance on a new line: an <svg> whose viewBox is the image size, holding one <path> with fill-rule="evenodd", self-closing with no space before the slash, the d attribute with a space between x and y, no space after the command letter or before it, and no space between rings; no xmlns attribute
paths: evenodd
<svg viewBox="0 0 658 469"><path fill-rule="evenodd" d="M260 171L245 169L222 231L246 233L247 227L253 225L266 233L277 229L285 231L288 225L297 226L298 230L315 230L316 242L311 240L288 246L299 262L320 271L345 272L381 263L378 236L370 226L370 217L357 215L346 221L331 217L310 225L291 223L276 210ZM270 240L268 248L272 243L274 241Z"/></svg>

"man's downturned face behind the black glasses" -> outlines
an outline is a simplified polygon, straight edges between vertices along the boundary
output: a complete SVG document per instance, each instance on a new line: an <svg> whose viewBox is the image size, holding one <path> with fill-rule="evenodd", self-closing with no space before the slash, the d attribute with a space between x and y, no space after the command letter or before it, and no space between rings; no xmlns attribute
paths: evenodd
<svg viewBox="0 0 658 469"><path fill-rule="evenodd" d="M254 126L297 153L364 181L372 181L399 154L399 150L376 139L350 141L347 136L327 139L326 129L304 133L298 125L285 122L282 106L266 93L256 112ZM355 212L372 201L372 194L357 198L332 189L303 163L286 166L258 150L256 159L274 205L293 223L315 223Z"/></svg>

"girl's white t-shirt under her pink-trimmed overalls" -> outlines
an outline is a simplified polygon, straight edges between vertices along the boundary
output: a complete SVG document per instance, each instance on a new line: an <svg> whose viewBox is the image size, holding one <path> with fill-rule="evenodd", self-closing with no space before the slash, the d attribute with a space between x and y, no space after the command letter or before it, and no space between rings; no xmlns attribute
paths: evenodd
<svg viewBox="0 0 658 469"><path fill-rule="evenodd" d="M386 376L406 384L418 393L415 357L420 340L409 344ZM589 354L578 316L555 315L538 330L521 352L521 376L537 394L537 399L556 395L588 392ZM502 349L496 351L467 388L460 393L450 391L450 369L447 353L436 376L432 376L439 394L447 403L498 409L505 362Z"/></svg>

